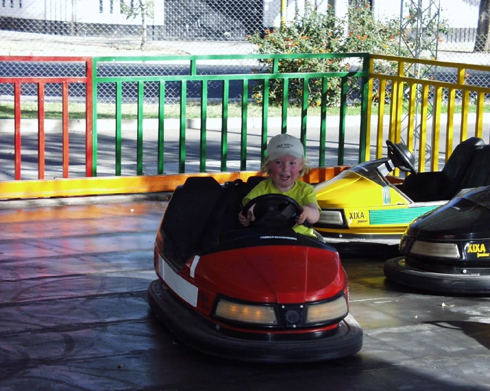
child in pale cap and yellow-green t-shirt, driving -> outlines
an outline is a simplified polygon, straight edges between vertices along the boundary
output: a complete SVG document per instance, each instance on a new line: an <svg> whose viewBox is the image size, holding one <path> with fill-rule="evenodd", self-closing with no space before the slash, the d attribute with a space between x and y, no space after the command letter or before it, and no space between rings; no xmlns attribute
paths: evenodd
<svg viewBox="0 0 490 391"><path fill-rule="evenodd" d="M314 231L310 227L303 225L316 223L320 218L321 209L317 203L317 197L313 191L313 186L299 181L309 171L308 162L304 158L304 147L299 139L289 134L279 134L269 140L267 144L267 159L261 168L269 178L261 181L243 199L243 205L262 194L284 194L302 207L302 212L296 216L296 225L293 227L298 234L312 236L316 238ZM240 223L247 227L254 218L254 207L252 206L243 216L238 214Z"/></svg>

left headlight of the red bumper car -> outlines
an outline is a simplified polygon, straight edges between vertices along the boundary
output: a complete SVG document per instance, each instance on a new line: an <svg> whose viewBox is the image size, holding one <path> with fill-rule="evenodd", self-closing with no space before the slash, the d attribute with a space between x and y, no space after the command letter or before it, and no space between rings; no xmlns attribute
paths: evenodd
<svg viewBox="0 0 490 391"><path fill-rule="evenodd" d="M275 309L271 305L243 304L220 299L215 315L232 322L265 326L278 325L278 317L275 315Z"/></svg>

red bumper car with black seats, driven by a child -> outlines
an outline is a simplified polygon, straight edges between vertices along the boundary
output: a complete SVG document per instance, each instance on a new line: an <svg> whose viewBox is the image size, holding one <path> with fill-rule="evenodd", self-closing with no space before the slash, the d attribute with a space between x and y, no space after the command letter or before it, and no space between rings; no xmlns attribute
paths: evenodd
<svg viewBox="0 0 490 391"><path fill-rule="evenodd" d="M299 206L288 197L254 200L256 227L240 227L251 188L193 177L175 190L156 236L152 310L177 340L217 357L315 362L358 352L363 331L339 254L291 229Z"/></svg>

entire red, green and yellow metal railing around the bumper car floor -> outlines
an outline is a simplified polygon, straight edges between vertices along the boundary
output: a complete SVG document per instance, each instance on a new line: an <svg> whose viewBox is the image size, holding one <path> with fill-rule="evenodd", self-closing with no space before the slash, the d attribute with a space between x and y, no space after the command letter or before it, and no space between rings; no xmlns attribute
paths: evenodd
<svg viewBox="0 0 490 391"><path fill-rule="evenodd" d="M285 59L331 59L331 58L352 58L359 60L358 71L345 72L325 72L325 73L280 73L279 63ZM210 71L206 68L212 62L221 60L247 60L249 62L258 62L258 60L267 60L263 68L258 68L251 73L219 73L216 70ZM474 136L490 140L490 116L489 110L486 110L485 96L490 95L490 88L474 86L471 83L471 75L478 72L480 75L490 75L490 66L478 66L472 64L457 64L448 62L438 62L429 60L416 60L413 58L397 58L386 55L367 55L366 53L350 54L307 54L307 55L208 55L208 56L162 56L162 57L119 57L119 58L38 58L38 57L3 57L0 58L0 65L5 62L31 62L32 64L43 64L47 68L56 68L58 76L50 76L52 71L25 72L21 75L2 76L0 86L9 86L13 91L14 101L14 129L13 129L13 163L14 163L14 180L0 181L1 198L22 198L22 197L56 197L70 195L88 195L88 194L114 194L124 192L158 192L173 190L175 186L181 184L188 175L213 175L221 181L232 180L236 177L246 177L253 175L257 167L251 168L249 165L251 157L257 158L259 163L265 159L267 139L272 136L269 129L269 112L272 109L268 99L263 99L260 104L260 131L258 135L258 151L250 153L250 134L248 123L249 109L252 105L252 90L260 89L262 96L269 96L269 85L279 81L282 85L282 97L280 97L280 117L279 129L282 133L297 131L305 149L311 151L312 148L318 148L317 161L313 162L314 168L326 167L326 144L331 141L333 136L337 137L336 146L336 164L344 164L345 157L345 119L347 112L347 85L348 81L358 81L360 84L360 118L358 121L358 161L363 162L371 157L371 147L375 147L374 155L378 158L382 156L383 142L385 138L390 138L395 142L404 140L411 151L414 151L418 158L419 171L426 170L426 160L428 157L428 169L437 171L441 157L447 160L452 153L454 140L465 140L472 129ZM160 72L156 64L162 62L173 62L179 64L184 70L180 74L165 74ZM389 62L395 64L397 71L392 74L376 73L376 62ZM64 64L82 64L84 71L78 69L73 73L73 67L68 67L60 71ZM130 71L126 71L119 76L112 76L114 69L123 64L123 69L129 69L127 64L132 64ZM432 75L421 75L420 78L406 76L406 68L417 64L432 66L436 73ZM148 71L146 66L150 66ZM368 68L369 66L369 68ZM110 67L110 73L104 70ZM75 67L76 68L76 67ZM78 66L78 68L80 68ZM27 68L26 68L27 69ZM142 71L143 70L143 71ZM446 76L454 80L439 81L437 75L444 72ZM328 116L326 115L326 90L329 80L332 78L341 79L341 103L340 115L336 117L338 122L338 134L327 134L326 125ZM292 117L289 113L291 102L288 89L293 79L299 79L299 85L302 86L302 95L299 97L300 113L299 125L297 129L291 129ZM323 89L320 121L315 134L308 133L312 129L308 119L308 88L309 81L321 79L321 88ZM75 84L76 83L76 84ZM219 94L212 92L210 97L211 83L217 83L221 88ZM69 86L71 84L82 84L85 86L84 105L85 112L85 174L82 178L69 177L70 161L70 129L69 129L69 112L68 103ZM147 84L156 85L158 94L147 95ZM174 84L178 86L178 94L170 96L166 86ZM232 88L232 84L234 87ZM62 151L62 176L60 179L45 179L45 86L61 86L62 101L62 138L57 149ZM32 88L34 86L34 88ZM128 90L128 86L136 92ZM237 88L238 86L238 88ZM379 86L377 91L375 86ZM197 162L199 168L197 171L188 169L188 106L193 103L189 99L188 89L193 88L195 91L191 97L199 97L199 127L191 129L198 132L194 144L198 144L197 153L191 157ZM4 88L5 90L5 88ZM38 151L36 160L38 162L38 179L21 180L21 134L22 134L22 110L21 95L26 90L30 94L36 92L37 97L37 145ZM71 89L70 89L71 90ZM174 89L171 89L172 91ZM368 93L368 92L373 92ZM112 119L100 120L99 95L104 95L104 102L113 101L115 105L114 116ZM137 119L136 126L131 131L132 138L136 140L134 149L124 150L123 132L123 94L129 94L136 105ZM419 95L420 99L415 99ZM212 129L215 134L219 135L219 164L214 172L208 168L210 153L208 151L208 109L210 102L219 101L221 116L219 119L218 129ZM417 103L420 101L420 105ZM236 145L230 144L230 104L238 103L240 118L238 119L238 138L235 136ZM375 105L377 103L377 106ZM154 166L154 173L145 173L143 169L144 157L148 157L148 151L145 149L145 132L148 131L145 120L145 107L152 104L158 108L156 123L158 124L158 138L156 140L156 155L150 155L147 162ZM178 126L176 129L167 127L166 110L169 105L178 106ZM385 105L389 105L389 112L385 115ZM472 112L471 112L472 111ZM487 111L487 113L485 113ZM428 115L430 114L430 115ZM376 124L373 123L377 116ZM99 129L101 121L110 121L114 125L114 137L103 138L99 140ZM310 121L311 122L311 121ZM331 123L329 122L331 125ZM316 125L315 125L316 126ZM371 127L376 129L376 134L371 138ZM175 142L170 146L164 143L168 135L175 138ZM195 133L196 134L196 133ZM165 136L165 137L164 137ZM3 138L5 139L5 138ZM351 138L352 140L352 138ZM103 145L101 145L103 144ZM147 146L148 144L146 144ZM103 147L103 149L101 149ZM440 149L443 148L444 152ZM216 145L214 146L216 149ZM230 170L230 150L236 149L238 156L238 165L234 170ZM97 177L97 160L101 151L107 155L106 151L113 151L114 166L112 173L102 173ZM166 151L172 149L171 157L164 159ZM418 149L418 153L417 153ZM351 149L352 151L352 149ZM330 150L332 152L332 150ZM73 151L72 151L73 153ZM133 155L126 156L125 153ZM216 154L215 154L216 157ZM136 169L123 175L123 158L132 160ZM332 160L330 157L330 165ZM167 174L167 165L177 166L177 170L170 175ZM254 171L255 170L255 171ZM306 180L312 183L328 179L321 174L315 173L313 177ZM333 173L333 171L332 171ZM330 174L329 174L330 175Z"/></svg>

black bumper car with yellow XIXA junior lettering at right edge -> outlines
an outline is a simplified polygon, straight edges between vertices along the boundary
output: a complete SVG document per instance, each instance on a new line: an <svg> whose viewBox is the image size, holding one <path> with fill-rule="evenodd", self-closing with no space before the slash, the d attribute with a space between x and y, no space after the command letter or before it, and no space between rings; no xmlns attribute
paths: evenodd
<svg viewBox="0 0 490 391"><path fill-rule="evenodd" d="M490 186L463 190L414 220L400 252L384 264L392 281L434 292L490 294Z"/></svg>

